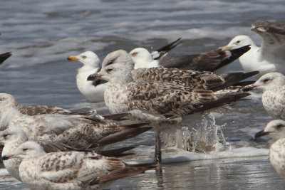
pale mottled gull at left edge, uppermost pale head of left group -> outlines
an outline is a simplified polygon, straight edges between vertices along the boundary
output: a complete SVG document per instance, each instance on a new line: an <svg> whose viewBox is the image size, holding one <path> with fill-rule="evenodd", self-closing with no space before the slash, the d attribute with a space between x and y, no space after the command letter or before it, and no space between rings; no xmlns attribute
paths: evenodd
<svg viewBox="0 0 285 190"><path fill-rule="evenodd" d="M0 93L0 129L19 127L29 140L60 142L75 148L97 147L134 137L149 127L146 124L123 125L120 120L128 114L111 115L24 115L16 107L13 96ZM114 119L114 120L109 120ZM123 118L122 118L123 119ZM128 121L128 120L126 120Z"/></svg>

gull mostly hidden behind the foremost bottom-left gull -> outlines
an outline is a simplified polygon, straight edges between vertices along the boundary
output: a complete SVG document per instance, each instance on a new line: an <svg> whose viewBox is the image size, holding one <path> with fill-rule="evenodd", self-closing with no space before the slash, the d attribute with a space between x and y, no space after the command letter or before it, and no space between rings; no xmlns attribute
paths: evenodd
<svg viewBox="0 0 285 190"><path fill-rule="evenodd" d="M2 156L6 154L12 154L15 152L15 149L19 147L22 143L28 141L28 137L24 130L21 130L19 127L11 127L4 131L0 132L0 143L4 145L2 150ZM48 142L48 141L36 141L38 144L41 144L45 152L66 152L71 150L78 150L78 151L96 151L99 154L105 156L112 156L112 157L120 157L126 150L132 149L133 147L125 147L123 149L112 149L107 151L100 151L100 149L75 149L70 147L66 144L58 143L58 142ZM21 163L21 159L13 158L9 160L4 160L4 167L9 171L11 176L21 181L19 176L19 165Z"/></svg>

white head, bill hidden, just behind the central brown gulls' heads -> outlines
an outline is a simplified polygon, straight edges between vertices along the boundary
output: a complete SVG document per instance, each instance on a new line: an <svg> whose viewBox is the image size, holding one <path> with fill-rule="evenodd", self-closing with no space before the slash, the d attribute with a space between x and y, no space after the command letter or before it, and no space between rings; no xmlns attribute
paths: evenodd
<svg viewBox="0 0 285 190"><path fill-rule="evenodd" d="M152 62L152 56L145 48L135 48L130 51L130 56L135 63L135 69L146 68L148 63Z"/></svg>

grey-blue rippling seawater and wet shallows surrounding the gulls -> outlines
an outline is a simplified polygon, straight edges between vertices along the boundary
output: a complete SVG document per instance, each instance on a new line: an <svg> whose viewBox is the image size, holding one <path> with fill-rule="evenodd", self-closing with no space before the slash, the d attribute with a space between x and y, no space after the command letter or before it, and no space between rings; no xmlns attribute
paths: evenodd
<svg viewBox="0 0 285 190"><path fill-rule="evenodd" d="M69 109L96 108L76 88L81 63L68 56L95 51L103 59L110 51L138 46L151 50L182 37L170 56L202 53L226 45L250 31L257 20L285 23L285 1L4 1L0 11L0 53L13 56L0 65L0 89L21 104L57 105ZM225 70L242 70L238 61ZM162 174L149 171L115 181L110 189L281 189L284 181L268 160L270 140L252 137L271 118L259 100L238 102L213 113L222 126L212 152L194 153L167 148ZM151 162L153 132L113 146L138 144L128 162ZM171 162L171 163L170 163ZM24 189L0 174L0 189Z"/></svg>

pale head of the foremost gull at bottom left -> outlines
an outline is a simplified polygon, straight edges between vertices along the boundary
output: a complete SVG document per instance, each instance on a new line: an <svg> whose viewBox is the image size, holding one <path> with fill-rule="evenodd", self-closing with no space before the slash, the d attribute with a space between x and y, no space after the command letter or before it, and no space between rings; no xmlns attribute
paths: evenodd
<svg viewBox="0 0 285 190"><path fill-rule="evenodd" d="M46 152L44 152L43 147L41 147L40 144L33 141L27 141L21 144L18 148L16 148L13 154L3 155L2 159L3 160L11 158L26 159L26 158L39 157L43 154L46 154Z"/></svg>

